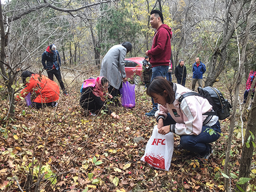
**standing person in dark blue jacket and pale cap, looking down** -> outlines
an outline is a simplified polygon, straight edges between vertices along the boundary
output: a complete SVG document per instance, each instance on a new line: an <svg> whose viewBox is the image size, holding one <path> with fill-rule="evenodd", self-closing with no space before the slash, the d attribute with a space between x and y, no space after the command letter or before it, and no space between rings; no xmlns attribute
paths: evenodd
<svg viewBox="0 0 256 192"><path fill-rule="evenodd" d="M53 75L55 75L63 91L63 94L68 96L64 83L61 79L61 74L60 74L61 63L60 63L59 52L57 51L57 48L54 44L47 47L46 51L42 54L41 62L42 62L42 65L44 66L44 69L47 71L48 78L53 81Z"/></svg>

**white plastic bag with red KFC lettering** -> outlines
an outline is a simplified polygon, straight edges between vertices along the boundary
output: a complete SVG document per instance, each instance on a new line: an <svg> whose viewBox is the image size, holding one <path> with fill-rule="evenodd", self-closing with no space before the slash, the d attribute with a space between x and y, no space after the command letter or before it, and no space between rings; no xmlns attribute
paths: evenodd
<svg viewBox="0 0 256 192"><path fill-rule="evenodd" d="M147 141L145 154L141 161L147 162L157 169L169 170L174 152L174 134L169 132L166 135L158 133L157 125L150 140Z"/></svg>

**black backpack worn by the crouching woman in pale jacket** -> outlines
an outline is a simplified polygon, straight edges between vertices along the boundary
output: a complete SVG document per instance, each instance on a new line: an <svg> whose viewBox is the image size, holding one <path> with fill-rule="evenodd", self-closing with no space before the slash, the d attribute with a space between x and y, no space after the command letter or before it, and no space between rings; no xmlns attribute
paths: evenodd
<svg viewBox="0 0 256 192"><path fill-rule="evenodd" d="M222 93L212 87L206 87L206 88L198 88L198 93L196 92L188 92L181 95L179 98L179 103L181 103L182 99L184 97L190 96L190 95L197 95L203 98L206 98L209 103L212 105L212 109L215 112L206 112L203 115L217 115L219 117L219 120L226 119L230 113L230 108L232 108L232 105L228 102L227 99L225 99L222 95Z"/></svg>

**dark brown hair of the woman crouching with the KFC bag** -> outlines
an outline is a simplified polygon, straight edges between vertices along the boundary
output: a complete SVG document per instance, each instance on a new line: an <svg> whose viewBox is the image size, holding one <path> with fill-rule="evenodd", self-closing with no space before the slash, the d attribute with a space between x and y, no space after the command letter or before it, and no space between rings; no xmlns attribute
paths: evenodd
<svg viewBox="0 0 256 192"><path fill-rule="evenodd" d="M167 92L167 96L163 92ZM150 86L146 90L146 94L152 97L152 93L159 94L165 97L165 100L168 104L173 103L175 99L175 93L173 90L173 83L167 81L163 77L156 77L150 83Z"/></svg>

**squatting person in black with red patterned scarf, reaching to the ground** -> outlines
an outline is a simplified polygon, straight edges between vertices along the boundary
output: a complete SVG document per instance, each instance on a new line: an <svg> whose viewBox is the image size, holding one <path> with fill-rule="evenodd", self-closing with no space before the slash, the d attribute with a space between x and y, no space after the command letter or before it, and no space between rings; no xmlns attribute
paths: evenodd
<svg viewBox="0 0 256 192"><path fill-rule="evenodd" d="M105 100L112 98L108 92L109 80L105 77L97 77L95 84L87 88L82 88L80 97L80 106L82 109L90 111L90 113L99 113L101 109L108 111L111 117L119 119L108 107L106 107Z"/></svg>

